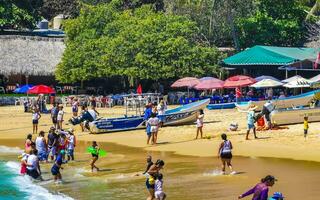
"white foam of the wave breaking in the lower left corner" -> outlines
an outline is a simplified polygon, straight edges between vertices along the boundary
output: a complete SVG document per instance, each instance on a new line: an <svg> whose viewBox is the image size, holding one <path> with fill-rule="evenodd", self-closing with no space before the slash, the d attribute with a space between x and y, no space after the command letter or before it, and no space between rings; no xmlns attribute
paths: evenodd
<svg viewBox="0 0 320 200"><path fill-rule="evenodd" d="M14 173L17 173L20 169L20 164L18 162L8 161L6 166ZM20 191L28 194L28 199L43 199L43 200L71 200L64 194L57 193L52 194L46 188L41 187L32 182L31 178L28 176L17 176L14 178L14 183Z"/></svg>

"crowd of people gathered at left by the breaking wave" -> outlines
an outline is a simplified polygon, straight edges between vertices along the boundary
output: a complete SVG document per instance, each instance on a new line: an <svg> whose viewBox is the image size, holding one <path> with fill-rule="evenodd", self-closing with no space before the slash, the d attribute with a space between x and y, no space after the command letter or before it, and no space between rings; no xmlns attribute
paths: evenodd
<svg viewBox="0 0 320 200"><path fill-rule="evenodd" d="M60 169L63 169L63 163L74 160L75 147L76 137L73 129L63 130L51 127L47 137L44 131L40 131L35 140L32 134L28 134L25 140L25 153L21 158L20 173L41 180L40 163L51 161L53 178L56 182L61 182Z"/></svg>

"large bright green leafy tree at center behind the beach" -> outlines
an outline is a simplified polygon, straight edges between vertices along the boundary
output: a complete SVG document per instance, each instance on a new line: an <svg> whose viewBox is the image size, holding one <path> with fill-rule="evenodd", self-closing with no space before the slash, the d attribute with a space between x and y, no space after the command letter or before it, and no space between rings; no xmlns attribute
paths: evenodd
<svg viewBox="0 0 320 200"><path fill-rule="evenodd" d="M124 11L113 3L88 6L65 23L65 32L67 48L56 70L62 82L212 75L222 56L203 42L194 22L151 6Z"/></svg>

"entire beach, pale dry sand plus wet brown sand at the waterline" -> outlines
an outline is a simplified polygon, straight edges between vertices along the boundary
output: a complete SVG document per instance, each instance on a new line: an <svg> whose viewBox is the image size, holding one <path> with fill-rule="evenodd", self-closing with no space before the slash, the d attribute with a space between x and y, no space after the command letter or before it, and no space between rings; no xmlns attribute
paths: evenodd
<svg viewBox="0 0 320 200"><path fill-rule="evenodd" d="M66 107L65 111L67 121L71 117L71 108ZM103 117L117 117L123 114L124 109L100 108L98 111ZM26 134L32 131L31 113L23 113L21 106L0 107L0 113L0 147L23 148ZM246 141L246 115L243 113L236 110L205 110L204 121L204 133L205 136L211 136L210 139L194 140L195 124L164 127L160 129L159 144L156 146L146 145L145 130L93 135L82 133L80 127L76 126L76 161L65 165L65 182L61 186L56 186L51 181L51 163L43 164L44 178L48 181L40 185L49 190L49 193L45 192L43 195L65 194L74 199L100 198L106 195L111 200L144 199L147 194L145 177L135 174L141 173L145 168L147 154L154 159L166 161L163 173L165 191L170 199L234 199L266 174L273 174L279 179L270 192L281 191L289 199L312 200L313 195L319 195L316 189L319 179L317 162L320 161L320 138L316 128L318 123L310 124L307 141L303 138L302 125L258 132L260 139ZM232 121L239 123L239 131L227 131ZM50 115L43 114L39 125L39 130L47 131L51 126ZM72 125L65 124L64 128L70 127ZM239 172L237 176L220 175L220 161L215 156L221 141L220 134L223 132L229 135L234 145L236 156L233 163ZM99 159L97 163L102 169L99 173L90 172L90 155L85 153L92 140L98 141L102 149L109 152L106 159ZM6 165L18 164L12 162L16 160L16 154L0 152L0 157L5 161L9 160ZM297 174L299 177L295 176ZM201 187L195 187L196 185ZM190 190L188 196L184 195L186 190Z"/></svg>

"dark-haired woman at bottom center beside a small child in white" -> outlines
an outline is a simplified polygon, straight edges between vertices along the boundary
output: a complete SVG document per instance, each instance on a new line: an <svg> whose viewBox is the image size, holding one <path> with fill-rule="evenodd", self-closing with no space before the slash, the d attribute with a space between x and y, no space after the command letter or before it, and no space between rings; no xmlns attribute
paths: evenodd
<svg viewBox="0 0 320 200"><path fill-rule="evenodd" d="M155 184L155 178L157 174L159 174L159 171L163 168L164 161L163 160L157 160L155 164L153 164L150 169L148 170L148 177L146 180L146 186L147 190L149 192L149 195L147 197L147 200L154 200L154 184Z"/></svg>

